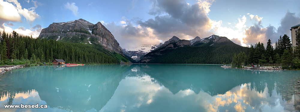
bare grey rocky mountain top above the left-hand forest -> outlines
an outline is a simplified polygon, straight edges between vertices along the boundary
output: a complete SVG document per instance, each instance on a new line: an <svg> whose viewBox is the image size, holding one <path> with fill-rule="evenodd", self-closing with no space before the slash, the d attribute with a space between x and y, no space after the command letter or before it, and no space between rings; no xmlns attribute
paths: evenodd
<svg viewBox="0 0 300 112"><path fill-rule="evenodd" d="M42 29L39 38L72 43L100 44L107 50L123 54L117 40L101 22L92 24L84 19L77 19L70 22L52 23L47 28Z"/></svg>

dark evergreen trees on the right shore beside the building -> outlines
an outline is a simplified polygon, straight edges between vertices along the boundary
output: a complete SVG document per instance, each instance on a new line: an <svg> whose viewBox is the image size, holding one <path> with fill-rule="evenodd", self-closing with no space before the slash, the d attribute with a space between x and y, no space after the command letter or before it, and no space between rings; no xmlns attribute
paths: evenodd
<svg viewBox="0 0 300 112"><path fill-rule="evenodd" d="M297 30L300 32L300 28ZM296 34L296 45L292 47L291 39L284 34L275 42L274 47L269 39L266 47L263 43L250 45L246 52L235 54L232 58L233 67L242 65L281 64L287 69L300 68L300 33Z"/></svg>

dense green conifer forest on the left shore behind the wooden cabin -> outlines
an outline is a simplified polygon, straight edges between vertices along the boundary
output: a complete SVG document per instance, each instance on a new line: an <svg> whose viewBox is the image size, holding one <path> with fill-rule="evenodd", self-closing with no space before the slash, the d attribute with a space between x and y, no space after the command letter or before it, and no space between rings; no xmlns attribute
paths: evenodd
<svg viewBox="0 0 300 112"><path fill-rule="evenodd" d="M0 32L0 65L52 63L63 59L66 63L110 64L128 61L124 56L104 49L100 44L54 41L53 39L22 36L13 31Z"/></svg>

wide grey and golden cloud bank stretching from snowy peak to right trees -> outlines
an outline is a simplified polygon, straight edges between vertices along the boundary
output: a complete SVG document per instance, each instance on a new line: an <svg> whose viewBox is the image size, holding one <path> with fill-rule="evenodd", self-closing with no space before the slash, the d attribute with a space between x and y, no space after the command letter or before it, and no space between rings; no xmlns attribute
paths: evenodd
<svg viewBox="0 0 300 112"><path fill-rule="evenodd" d="M119 22L101 22L109 29L123 48L136 47L139 44L159 44L167 41L172 36L180 39L193 39L208 37L212 34L226 36L238 45L254 45L257 42L266 43L271 39L272 43L280 35L289 34L289 28L300 23L295 13L286 13L278 27L278 30L269 25L262 27L262 19L258 15L247 13L250 21L255 21L252 26L247 26L245 15L237 18L237 22L223 25L222 20L208 18L210 6L214 1L198 1L188 4L185 0L150 0L151 7L148 14L154 16L148 20L122 18ZM228 26L227 25L227 26ZM285 33L281 33L282 31Z"/></svg>

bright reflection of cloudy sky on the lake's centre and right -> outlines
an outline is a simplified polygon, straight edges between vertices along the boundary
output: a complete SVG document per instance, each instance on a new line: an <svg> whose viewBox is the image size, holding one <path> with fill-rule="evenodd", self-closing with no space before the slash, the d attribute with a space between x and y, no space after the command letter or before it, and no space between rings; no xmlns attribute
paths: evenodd
<svg viewBox="0 0 300 112"><path fill-rule="evenodd" d="M136 73L136 71L134 71ZM265 90L268 91L266 87ZM281 103L281 96L272 91L256 91L251 83L232 88L224 94L211 96L200 91L195 93L187 88L173 94L164 85L159 84L147 74L127 76L120 81L114 95L101 109L105 111L284 111L286 105L294 101Z"/></svg>

